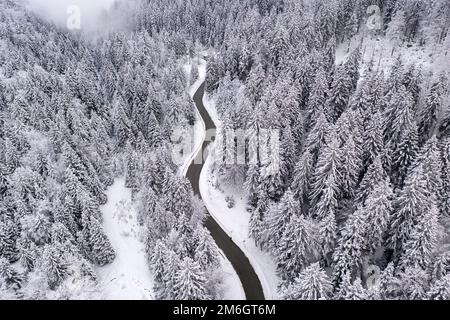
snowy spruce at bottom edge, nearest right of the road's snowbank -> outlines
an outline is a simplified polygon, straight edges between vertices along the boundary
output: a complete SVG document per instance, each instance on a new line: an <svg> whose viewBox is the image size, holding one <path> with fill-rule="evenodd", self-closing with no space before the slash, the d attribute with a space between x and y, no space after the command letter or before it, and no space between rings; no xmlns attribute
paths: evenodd
<svg viewBox="0 0 450 320"><path fill-rule="evenodd" d="M332 297L331 281L318 262L305 268L283 292L286 300L326 300Z"/></svg>

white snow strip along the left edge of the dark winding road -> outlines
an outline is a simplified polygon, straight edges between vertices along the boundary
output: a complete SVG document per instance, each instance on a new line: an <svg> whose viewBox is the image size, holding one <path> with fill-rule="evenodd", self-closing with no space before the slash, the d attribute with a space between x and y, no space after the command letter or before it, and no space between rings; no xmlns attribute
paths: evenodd
<svg viewBox="0 0 450 320"><path fill-rule="evenodd" d="M198 90L200 85L205 81L206 78L206 61L204 59L190 59L190 64L186 64L183 68L186 75L189 77L191 68L198 67L198 79L194 84L187 88L189 95L194 96L195 92ZM190 81L189 81L190 82ZM196 121L193 130L193 143L192 152L186 156L184 163L180 166L179 173L181 175L186 175L189 165L194 160L194 157L199 152L203 145L203 140L205 139L205 123L195 107ZM231 265L230 261L225 257L222 250L220 252L220 261L223 270L222 274L222 290L221 295L224 300L245 300L245 292L242 287L242 283L239 280L239 276Z"/></svg>

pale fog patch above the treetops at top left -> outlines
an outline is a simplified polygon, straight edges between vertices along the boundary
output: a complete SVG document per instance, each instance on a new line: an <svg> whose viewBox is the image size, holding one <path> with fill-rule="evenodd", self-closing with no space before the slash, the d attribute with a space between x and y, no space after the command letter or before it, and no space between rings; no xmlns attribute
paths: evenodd
<svg viewBox="0 0 450 320"><path fill-rule="evenodd" d="M28 7L57 25L74 30L96 31L99 18L114 0L26 0Z"/></svg>

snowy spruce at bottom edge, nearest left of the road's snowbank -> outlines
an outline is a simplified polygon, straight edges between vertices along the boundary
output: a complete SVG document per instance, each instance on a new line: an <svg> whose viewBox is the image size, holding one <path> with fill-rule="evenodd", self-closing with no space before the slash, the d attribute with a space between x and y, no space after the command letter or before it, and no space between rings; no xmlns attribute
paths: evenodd
<svg viewBox="0 0 450 320"><path fill-rule="evenodd" d="M183 259L173 280L173 299L209 300L206 288L207 278L197 261L189 257Z"/></svg>

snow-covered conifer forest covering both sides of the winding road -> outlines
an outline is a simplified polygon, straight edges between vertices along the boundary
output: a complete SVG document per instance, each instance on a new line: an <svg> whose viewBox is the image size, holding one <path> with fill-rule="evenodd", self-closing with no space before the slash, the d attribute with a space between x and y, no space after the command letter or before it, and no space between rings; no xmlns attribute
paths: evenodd
<svg viewBox="0 0 450 320"><path fill-rule="evenodd" d="M210 178L230 208L244 195L281 299L450 299L447 0L130 3L92 37L0 0L0 299L104 297L120 179L152 297L224 298L172 159L172 132L199 121L185 66L200 52L217 136L280 132L277 172L216 162Z"/></svg>

